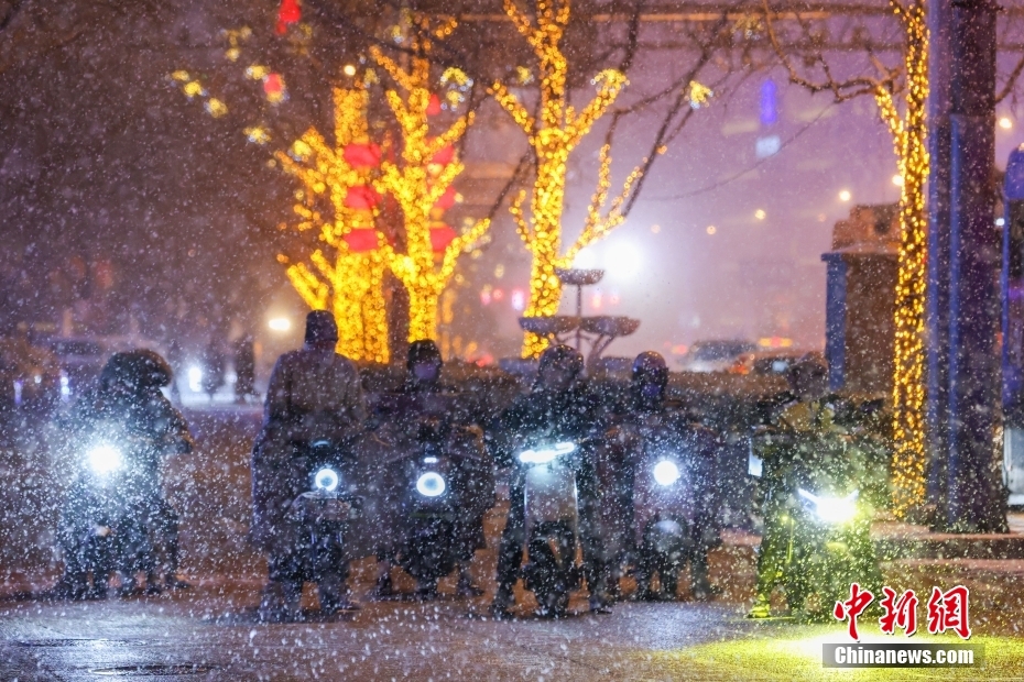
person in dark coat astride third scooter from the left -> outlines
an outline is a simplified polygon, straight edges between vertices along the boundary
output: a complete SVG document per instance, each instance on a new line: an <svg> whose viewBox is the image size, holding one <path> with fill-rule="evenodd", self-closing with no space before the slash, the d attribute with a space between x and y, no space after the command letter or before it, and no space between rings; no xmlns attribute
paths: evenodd
<svg viewBox="0 0 1024 682"><path fill-rule="evenodd" d="M404 435L418 433L423 427L436 430L449 448L457 448L467 457L460 458L462 477L471 492L466 495L468 504L462 509L465 515L458 519L459 578L456 593L459 596L479 596L483 591L473 584L469 572L470 563L478 549L486 549L483 538L483 515L494 503L493 470L483 457L471 457L480 448L480 427L484 421L483 409L470 396L442 381L444 360L437 344L431 340L414 341L410 344L406 361L406 376L402 387L381 397L372 419L381 426L382 436L396 444L406 444ZM471 447L476 442L477 447ZM467 448L467 446L470 446ZM467 491L468 492L468 491ZM391 569L394 556L391 549L378 554L378 581L374 596L389 597L394 594L391 582Z"/></svg>

